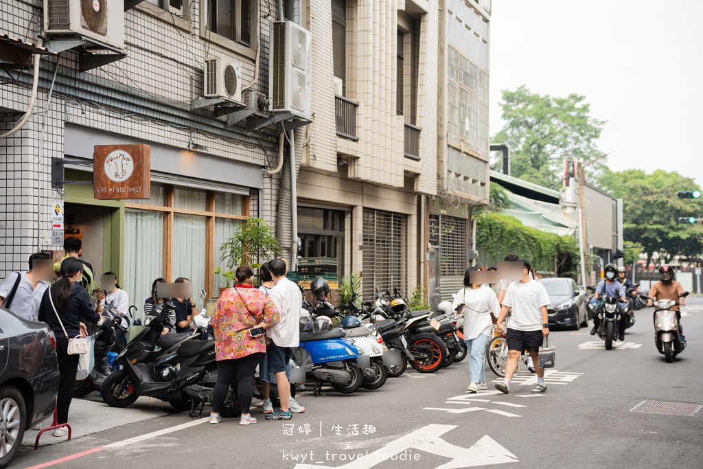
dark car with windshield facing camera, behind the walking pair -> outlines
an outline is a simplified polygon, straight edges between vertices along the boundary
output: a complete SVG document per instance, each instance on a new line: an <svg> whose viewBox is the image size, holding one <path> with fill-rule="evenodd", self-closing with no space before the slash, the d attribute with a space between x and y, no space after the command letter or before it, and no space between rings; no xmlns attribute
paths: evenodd
<svg viewBox="0 0 703 469"><path fill-rule="evenodd" d="M579 330L588 325L586 293L571 278L541 278L552 302L547 309L550 325Z"/></svg>

